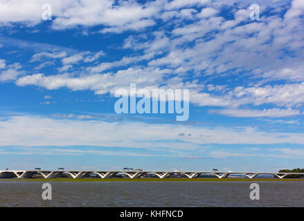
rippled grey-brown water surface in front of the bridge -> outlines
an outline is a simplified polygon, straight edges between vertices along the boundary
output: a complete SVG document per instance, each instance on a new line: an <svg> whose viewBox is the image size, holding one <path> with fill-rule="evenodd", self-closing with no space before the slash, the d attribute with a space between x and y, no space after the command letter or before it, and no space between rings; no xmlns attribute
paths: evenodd
<svg viewBox="0 0 304 221"><path fill-rule="evenodd" d="M0 206L304 206L303 182L50 182L53 200L42 200L43 182L0 181Z"/></svg>

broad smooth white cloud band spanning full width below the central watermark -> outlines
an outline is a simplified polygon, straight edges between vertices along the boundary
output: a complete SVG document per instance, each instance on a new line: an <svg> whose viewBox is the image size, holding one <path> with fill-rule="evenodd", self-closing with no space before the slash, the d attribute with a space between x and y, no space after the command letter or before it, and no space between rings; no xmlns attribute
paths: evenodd
<svg viewBox="0 0 304 221"><path fill-rule="evenodd" d="M251 127L208 128L181 124L172 127L172 124L83 121L39 116L15 116L1 120L0 133L3 146L96 145L195 150L202 148L202 144L213 143L304 144L303 133L267 133ZM191 136L180 137L180 133L190 133ZM119 140L117 137L120 137Z"/></svg>

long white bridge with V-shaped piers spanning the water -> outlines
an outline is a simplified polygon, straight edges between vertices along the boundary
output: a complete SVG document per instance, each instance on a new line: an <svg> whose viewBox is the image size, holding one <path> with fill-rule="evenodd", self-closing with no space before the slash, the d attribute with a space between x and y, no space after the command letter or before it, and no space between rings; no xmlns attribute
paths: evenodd
<svg viewBox="0 0 304 221"><path fill-rule="evenodd" d="M66 173L69 177L74 179L83 178L90 174L95 174L97 177L102 179L111 178L118 174L125 174L129 178L141 178L145 177L147 174L156 175L157 177L164 179L168 178L172 175L184 175L190 179L196 178L199 175L214 175L220 179L229 177L229 175L244 175L249 179L253 179L257 175L274 175L274 177L278 177L283 179L287 175L303 175L304 173L272 173L272 172L232 172L232 171L104 171L104 170L97 170L97 171L78 171L78 170L33 170L33 171L25 171L25 170L6 170L0 171L0 178L33 178L37 175L42 175L44 178L56 178L62 173Z"/></svg>

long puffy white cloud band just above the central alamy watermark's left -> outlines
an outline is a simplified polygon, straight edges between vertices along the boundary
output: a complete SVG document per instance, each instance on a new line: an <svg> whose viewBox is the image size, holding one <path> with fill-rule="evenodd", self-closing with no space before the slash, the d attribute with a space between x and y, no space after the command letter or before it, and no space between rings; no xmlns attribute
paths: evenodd
<svg viewBox="0 0 304 221"><path fill-rule="evenodd" d="M128 68L119 70L115 74L105 73L80 77L73 77L69 74L45 76L39 73L20 77L16 84L18 86L41 86L49 90L66 87L71 90L93 90L98 94L114 93L116 88L128 88L129 82L138 84L138 87L142 88L157 87L163 75L169 71L168 69Z"/></svg>

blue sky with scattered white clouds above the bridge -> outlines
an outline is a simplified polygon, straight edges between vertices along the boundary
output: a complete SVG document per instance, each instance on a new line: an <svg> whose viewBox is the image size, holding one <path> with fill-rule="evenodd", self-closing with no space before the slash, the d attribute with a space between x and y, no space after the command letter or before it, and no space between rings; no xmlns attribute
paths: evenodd
<svg viewBox="0 0 304 221"><path fill-rule="evenodd" d="M303 15L301 0L0 0L0 167L303 168ZM189 119L115 113L129 84L188 89Z"/></svg>

